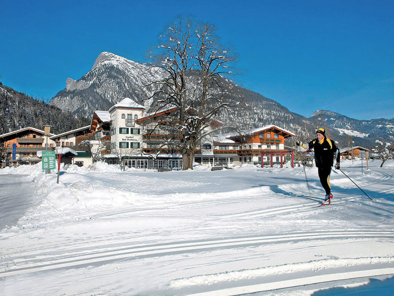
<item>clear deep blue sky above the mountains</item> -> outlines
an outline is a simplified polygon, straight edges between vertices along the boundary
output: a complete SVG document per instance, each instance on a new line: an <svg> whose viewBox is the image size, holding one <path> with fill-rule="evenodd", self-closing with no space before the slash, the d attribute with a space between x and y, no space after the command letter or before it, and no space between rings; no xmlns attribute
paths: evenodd
<svg viewBox="0 0 394 296"><path fill-rule="evenodd" d="M4 85L51 99L109 51L135 62L177 15L215 25L237 83L309 117L394 118L392 0L0 0Z"/></svg>

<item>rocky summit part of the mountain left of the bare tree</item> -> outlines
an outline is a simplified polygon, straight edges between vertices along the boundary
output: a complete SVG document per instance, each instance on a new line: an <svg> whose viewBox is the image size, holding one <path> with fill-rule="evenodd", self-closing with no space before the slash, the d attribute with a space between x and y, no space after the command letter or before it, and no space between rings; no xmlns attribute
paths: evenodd
<svg viewBox="0 0 394 296"><path fill-rule="evenodd" d="M152 73L157 71L157 73ZM160 76L158 69L135 63L109 52L103 52L92 70L78 80L67 78L66 89L60 91L50 105L71 111L77 116L108 110L125 97L142 103L149 95L150 77Z"/></svg>

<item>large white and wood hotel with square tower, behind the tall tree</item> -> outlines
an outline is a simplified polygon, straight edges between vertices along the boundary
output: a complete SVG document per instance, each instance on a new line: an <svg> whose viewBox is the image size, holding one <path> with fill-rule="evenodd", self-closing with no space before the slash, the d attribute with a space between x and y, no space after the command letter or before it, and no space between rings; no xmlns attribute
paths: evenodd
<svg viewBox="0 0 394 296"><path fill-rule="evenodd" d="M168 113L177 108L146 113L145 108L125 98L109 111L95 111L90 132L93 154L108 163L128 167L160 169L182 168L182 155L177 147L166 145L174 135L158 128ZM216 120L209 128L222 123ZM284 148L284 141L295 135L280 127L269 125L241 134L207 136L195 151L195 161L204 166L249 164L283 164L292 152ZM289 156L290 157L290 156ZM262 164L262 165L263 165Z"/></svg>

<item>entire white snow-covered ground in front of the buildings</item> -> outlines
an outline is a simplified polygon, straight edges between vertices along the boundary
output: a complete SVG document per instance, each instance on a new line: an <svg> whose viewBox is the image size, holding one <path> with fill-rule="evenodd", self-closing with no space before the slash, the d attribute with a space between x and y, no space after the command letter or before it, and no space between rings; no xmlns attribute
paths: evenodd
<svg viewBox="0 0 394 296"><path fill-rule="evenodd" d="M0 170L0 295L394 295L394 162ZM365 165L365 161L364 161ZM362 294L364 293L364 294Z"/></svg>

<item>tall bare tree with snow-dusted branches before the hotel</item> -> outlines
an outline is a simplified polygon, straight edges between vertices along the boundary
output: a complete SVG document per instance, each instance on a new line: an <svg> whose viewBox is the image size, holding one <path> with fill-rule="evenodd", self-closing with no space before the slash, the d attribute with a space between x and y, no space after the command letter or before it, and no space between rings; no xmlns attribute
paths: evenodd
<svg viewBox="0 0 394 296"><path fill-rule="evenodd" d="M160 129L176 135L170 143L180 149L183 169L193 169L197 143L221 110L231 108L229 87L224 75L236 56L219 43L216 28L191 18L178 18L160 36L163 44L153 56L153 65L164 72L154 80L153 111L174 108L160 122ZM212 131L210 131L212 132Z"/></svg>

